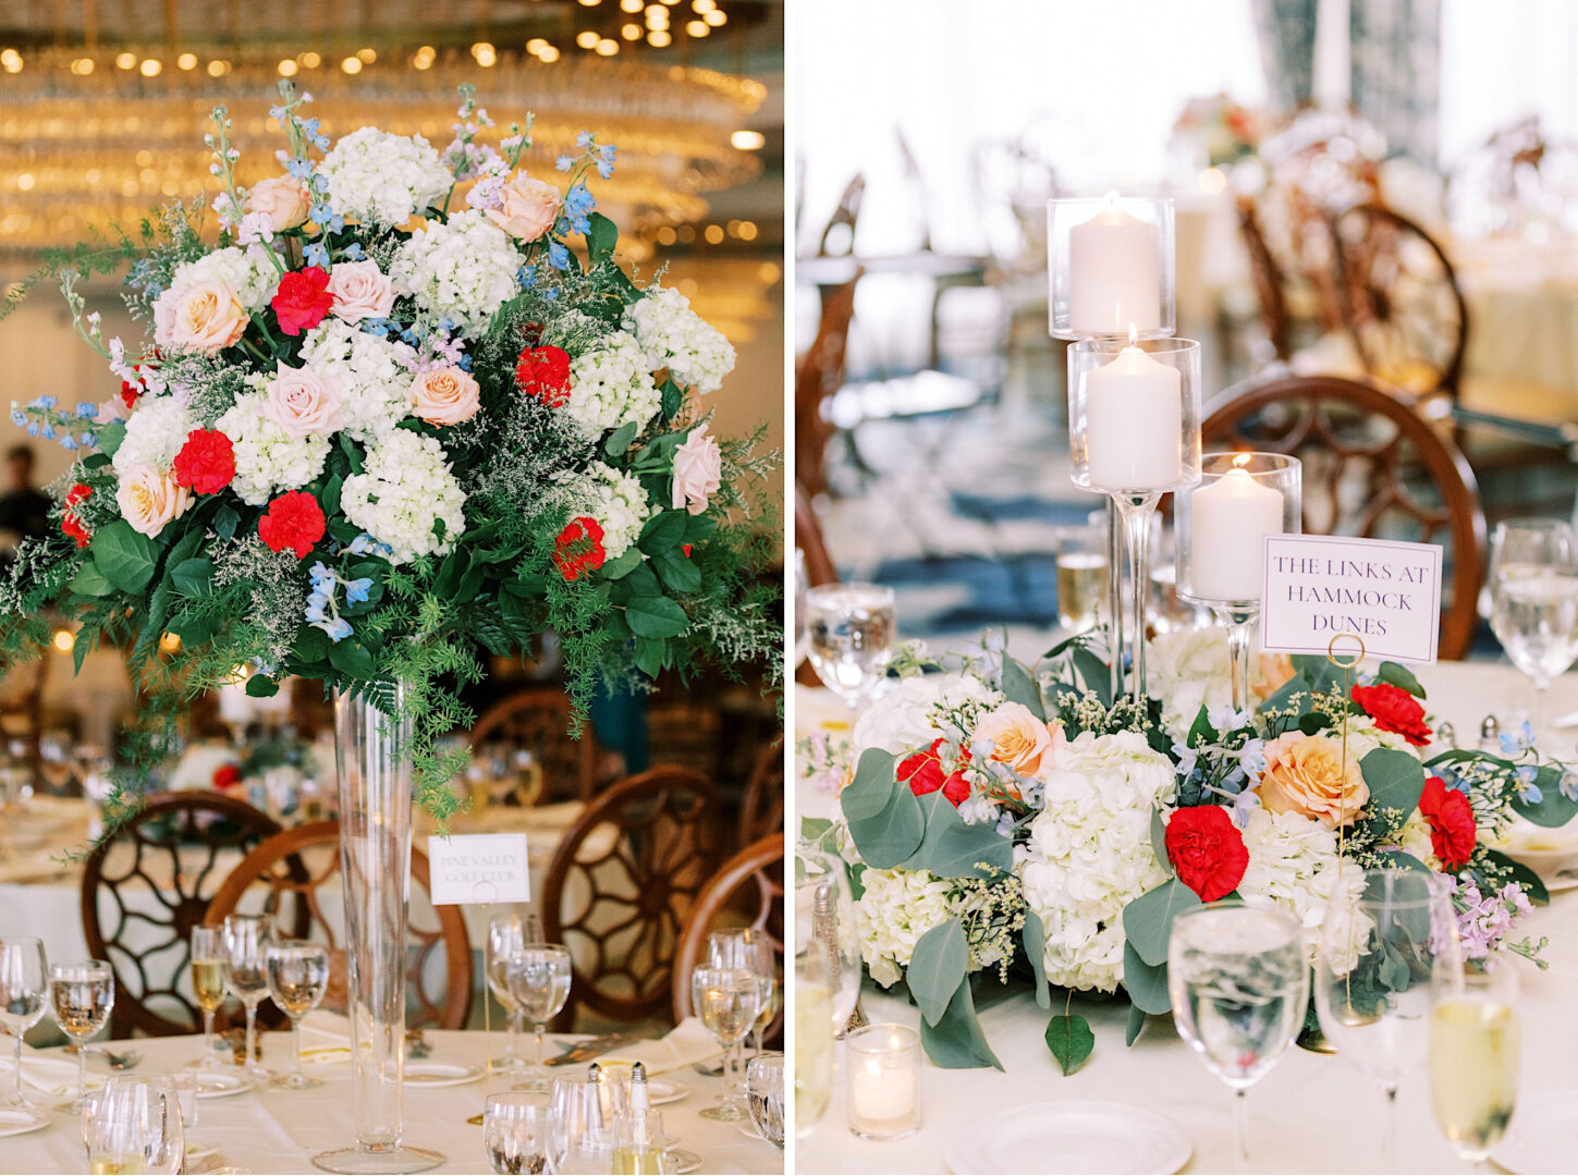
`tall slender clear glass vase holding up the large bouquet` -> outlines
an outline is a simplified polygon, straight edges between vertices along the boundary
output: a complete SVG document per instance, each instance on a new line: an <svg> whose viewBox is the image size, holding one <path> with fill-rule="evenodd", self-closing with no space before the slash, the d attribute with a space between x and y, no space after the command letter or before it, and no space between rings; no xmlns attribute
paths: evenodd
<svg viewBox="0 0 1578 1176"><path fill-rule="evenodd" d="M394 691L404 709L404 687ZM410 721L371 701L335 696L339 863L346 895L352 1102L357 1141L312 1157L323 1171L410 1173L443 1163L407 1146L406 900L410 892Z"/></svg>

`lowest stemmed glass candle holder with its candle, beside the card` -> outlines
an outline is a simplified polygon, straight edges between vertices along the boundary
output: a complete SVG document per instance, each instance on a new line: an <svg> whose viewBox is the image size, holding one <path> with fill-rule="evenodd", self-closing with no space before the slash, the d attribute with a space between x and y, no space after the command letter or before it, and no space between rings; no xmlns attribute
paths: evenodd
<svg viewBox="0 0 1578 1176"><path fill-rule="evenodd" d="M1303 466L1286 453L1207 453L1176 499L1179 595L1228 630L1232 706L1250 704L1250 639L1266 592L1266 537L1302 530Z"/></svg>

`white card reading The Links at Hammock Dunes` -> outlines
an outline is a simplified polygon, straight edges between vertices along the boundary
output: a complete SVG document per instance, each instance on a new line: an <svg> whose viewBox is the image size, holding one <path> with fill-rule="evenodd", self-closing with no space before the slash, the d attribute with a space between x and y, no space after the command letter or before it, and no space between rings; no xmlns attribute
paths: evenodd
<svg viewBox="0 0 1578 1176"><path fill-rule="evenodd" d="M1326 654L1352 633L1365 655L1434 661L1441 548L1337 535L1267 535L1261 649ZM1351 641L1335 654L1351 657Z"/></svg>

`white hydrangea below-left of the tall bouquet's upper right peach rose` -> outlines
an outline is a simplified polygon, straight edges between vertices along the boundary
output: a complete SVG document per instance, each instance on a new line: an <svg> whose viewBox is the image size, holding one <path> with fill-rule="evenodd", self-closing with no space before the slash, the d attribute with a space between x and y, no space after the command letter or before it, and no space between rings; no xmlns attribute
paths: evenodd
<svg viewBox="0 0 1578 1176"><path fill-rule="evenodd" d="M492 313L521 289L514 242L480 210L456 213L413 234L390 262L394 289L424 311L451 319L462 335L480 333Z"/></svg>

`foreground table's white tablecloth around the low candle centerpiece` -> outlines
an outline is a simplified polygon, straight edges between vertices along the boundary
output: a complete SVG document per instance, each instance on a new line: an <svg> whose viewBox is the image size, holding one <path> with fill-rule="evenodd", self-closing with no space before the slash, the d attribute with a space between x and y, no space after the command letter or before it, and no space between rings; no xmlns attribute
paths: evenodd
<svg viewBox="0 0 1578 1176"><path fill-rule="evenodd" d="M1447 718L1458 742L1472 747L1485 713L1510 717L1528 699L1528 679L1512 666L1441 663L1419 674L1430 691L1427 709ZM1578 707L1578 677L1559 679L1551 688L1551 713ZM798 737L827 731L847 734L849 712L825 690L798 687L795 731ZM805 780L797 785L800 816L828 816L832 796ZM1548 971L1513 960L1520 971L1523 1024L1521 1092L1570 1091L1578 1103L1578 1073L1572 1056L1578 1048L1578 897L1556 893L1516 930L1535 939L1550 936L1542 953ZM884 994L869 980L862 1004L871 1021L918 1023L903 983ZM1231 1095L1179 1040L1169 1018L1152 1017L1133 1047L1125 1048L1128 1002L1076 998L1095 1032L1095 1051L1070 1077L1062 1077L1043 1034L1051 1015L1035 1006L1027 987L977 990L977 1006L986 1040L1004 1072L944 1070L923 1066L923 1125L904 1140L869 1141L846 1127L843 1045L838 1081L827 1114L810 1138L798 1143L795 1163L808 1173L923 1173L944 1171L947 1149L967 1140L978 1124L1015 1107L1064 1099L1100 1099L1142 1107L1168 1116L1190 1137L1193 1155L1184 1171L1229 1171ZM1384 1129L1381 1088L1341 1058L1291 1048L1250 1091L1250 1170L1267 1173L1378 1171ZM1469 1171L1447 1146L1430 1110L1428 1075L1409 1075L1398 1094L1398 1171ZM1528 1130L1513 1118L1512 1132ZM1569 1157L1567 1171L1578 1165ZM1501 1168L1496 1168L1501 1171Z"/></svg>

